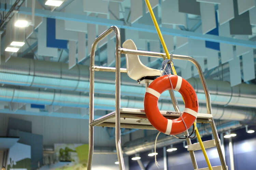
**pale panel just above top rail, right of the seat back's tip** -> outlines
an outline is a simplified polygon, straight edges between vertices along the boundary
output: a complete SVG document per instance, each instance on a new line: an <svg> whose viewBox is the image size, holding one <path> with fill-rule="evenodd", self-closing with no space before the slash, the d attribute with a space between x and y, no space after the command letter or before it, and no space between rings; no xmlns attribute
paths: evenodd
<svg viewBox="0 0 256 170"><path fill-rule="evenodd" d="M139 39L139 31L125 30L125 39L131 39L135 43L138 50L145 50L145 40ZM147 49L146 49L147 50Z"/></svg>

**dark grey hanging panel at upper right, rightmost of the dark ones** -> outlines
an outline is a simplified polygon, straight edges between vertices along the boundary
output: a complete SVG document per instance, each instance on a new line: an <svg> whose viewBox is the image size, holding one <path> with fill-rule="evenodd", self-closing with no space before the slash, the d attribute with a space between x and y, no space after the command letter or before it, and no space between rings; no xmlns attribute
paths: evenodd
<svg viewBox="0 0 256 170"><path fill-rule="evenodd" d="M234 19L229 21L230 24L230 34L237 35L252 35L252 26L250 24L249 11L239 15L237 0L233 0L234 2ZM239 27L242 26L242 27Z"/></svg>

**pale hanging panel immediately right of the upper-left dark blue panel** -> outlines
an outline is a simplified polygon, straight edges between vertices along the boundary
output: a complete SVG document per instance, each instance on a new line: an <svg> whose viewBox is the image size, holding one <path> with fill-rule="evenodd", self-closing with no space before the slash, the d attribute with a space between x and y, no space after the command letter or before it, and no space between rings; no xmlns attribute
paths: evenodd
<svg viewBox="0 0 256 170"><path fill-rule="evenodd" d="M56 39L63 39L63 40L78 40L78 34L75 31L68 31L65 30L64 20L56 19Z"/></svg>

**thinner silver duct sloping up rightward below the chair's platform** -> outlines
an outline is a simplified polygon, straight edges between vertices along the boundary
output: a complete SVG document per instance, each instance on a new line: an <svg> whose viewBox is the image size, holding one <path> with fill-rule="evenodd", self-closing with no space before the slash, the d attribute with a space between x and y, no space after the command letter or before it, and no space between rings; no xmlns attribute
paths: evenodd
<svg viewBox="0 0 256 170"><path fill-rule="evenodd" d="M241 126L241 124L238 121L234 121L234 122L224 123L222 125L217 126L216 128L219 132L221 132L221 131L227 131L229 129L238 128L240 126ZM210 134L212 134L211 132L212 131L211 131L210 128L207 131L199 130L199 133L202 136L210 135ZM144 140L144 139L141 139L141 140ZM182 141L181 139L177 139L177 138L175 138L171 135L165 136L164 138L161 138L161 139L157 140L156 148L162 148L162 147L165 147L165 146L170 146L170 145L175 144L175 143L180 143L181 141ZM155 141L142 142L142 144L140 142L139 145L134 145L131 141L129 141L129 143L125 143L124 146L125 146L124 150L123 150L124 153L126 155L133 155L133 154L136 154L136 153L152 150L155 146Z"/></svg>

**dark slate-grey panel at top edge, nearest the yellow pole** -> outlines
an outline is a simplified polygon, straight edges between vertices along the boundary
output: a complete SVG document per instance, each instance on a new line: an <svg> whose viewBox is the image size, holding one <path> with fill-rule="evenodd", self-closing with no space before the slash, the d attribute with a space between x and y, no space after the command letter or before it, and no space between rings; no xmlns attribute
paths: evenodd
<svg viewBox="0 0 256 170"><path fill-rule="evenodd" d="M200 15L200 4L196 0L179 0L179 12Z"/></svg>

